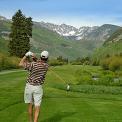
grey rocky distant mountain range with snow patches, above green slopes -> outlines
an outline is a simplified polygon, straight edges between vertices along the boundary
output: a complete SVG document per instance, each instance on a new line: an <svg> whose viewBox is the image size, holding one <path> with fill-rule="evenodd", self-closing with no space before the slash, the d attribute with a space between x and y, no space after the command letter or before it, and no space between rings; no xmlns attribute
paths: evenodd
<svg viewBox="0 0 122 122"><path fill-rule="evenodd" d="M57 32L59 35L72 40L98 40L105 41L109 36L115 32L119 26L104 24L102 26L87 27L83 26L80 28L75 28L70 25L61 24L56 25L52 23L40 22L36 23L41 27L45 27L49 30Z"/></svg>

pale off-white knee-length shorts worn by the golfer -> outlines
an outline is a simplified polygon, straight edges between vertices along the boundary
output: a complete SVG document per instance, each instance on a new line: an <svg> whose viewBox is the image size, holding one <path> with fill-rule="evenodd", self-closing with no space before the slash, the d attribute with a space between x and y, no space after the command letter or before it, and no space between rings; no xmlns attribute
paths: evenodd
<svg viewBox="0 0 122 122"><path fill-rule="evenodd" d="M43 96L42 86L33 86L29 83L25 86L24 101L25 103L32 103L35 106L40 106Z"/></svg>

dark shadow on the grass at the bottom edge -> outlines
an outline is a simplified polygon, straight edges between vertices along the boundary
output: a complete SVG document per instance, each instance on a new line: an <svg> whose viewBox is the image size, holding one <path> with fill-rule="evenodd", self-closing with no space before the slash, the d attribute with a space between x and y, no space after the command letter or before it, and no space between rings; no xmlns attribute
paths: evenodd
<svg viewBox="0 0 122 122"><path fill-rule="evenodd" d="M63 118L72 116L73 114L76 114L76 112L57 112L52 117L42 120L40 122L59 122Z"/></svg>

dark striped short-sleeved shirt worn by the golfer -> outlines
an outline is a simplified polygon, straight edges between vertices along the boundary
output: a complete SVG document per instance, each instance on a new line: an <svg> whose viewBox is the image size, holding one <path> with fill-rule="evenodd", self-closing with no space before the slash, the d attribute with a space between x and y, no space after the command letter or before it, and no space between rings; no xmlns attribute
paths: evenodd
<svg viewBox="0 0 122 122"><path fill-rule="evenodd" d="M37 62L26 62L24 68L29 71L27 83L31 85L41 85L44 83L45 75L49 65L38 60Z"/></svg>

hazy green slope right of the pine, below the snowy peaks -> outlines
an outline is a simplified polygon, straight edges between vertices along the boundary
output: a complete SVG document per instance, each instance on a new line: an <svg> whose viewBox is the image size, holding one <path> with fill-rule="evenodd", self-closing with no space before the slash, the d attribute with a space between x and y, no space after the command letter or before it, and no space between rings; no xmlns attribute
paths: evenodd
<svg viewBox="0 0 122 122"><path fill-rule="evenodd" d="M80 41L68 40L56 32L46 28L33 27L33 39L31 39L32 50L39 53L41 50L48 50L51 57L59 55L74 59L89 55L90 49L85 48Z"/></svg>

